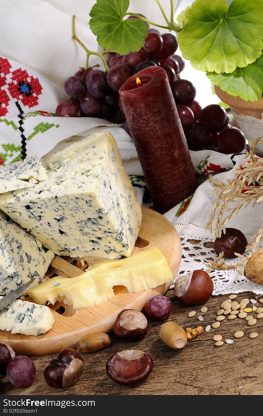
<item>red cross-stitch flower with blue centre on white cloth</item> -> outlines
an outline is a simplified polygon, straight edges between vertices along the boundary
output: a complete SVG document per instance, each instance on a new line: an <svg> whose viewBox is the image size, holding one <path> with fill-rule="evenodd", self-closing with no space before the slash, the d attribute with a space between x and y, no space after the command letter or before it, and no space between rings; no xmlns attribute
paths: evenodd
<svg viewBox="0 0 263 416"><path fill-rule="evenodd" d="M8 84L8 90L12 98L20 100L22 104L29 108L36 106L42 92L39 80L29 77L27 71L21 68L12 72L11 80L12 82Z"/></svg>

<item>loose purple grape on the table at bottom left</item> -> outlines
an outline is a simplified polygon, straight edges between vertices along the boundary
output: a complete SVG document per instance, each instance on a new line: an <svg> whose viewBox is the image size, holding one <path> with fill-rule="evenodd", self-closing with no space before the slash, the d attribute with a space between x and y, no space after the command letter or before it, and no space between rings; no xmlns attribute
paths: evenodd
<svg viewBox="0 0 263 416"><path fill-rule="evenodd" d="M25 355L17 355L10 359L6 369L8 380L18 389L32 386L36 372L34 363Z"/></svg>

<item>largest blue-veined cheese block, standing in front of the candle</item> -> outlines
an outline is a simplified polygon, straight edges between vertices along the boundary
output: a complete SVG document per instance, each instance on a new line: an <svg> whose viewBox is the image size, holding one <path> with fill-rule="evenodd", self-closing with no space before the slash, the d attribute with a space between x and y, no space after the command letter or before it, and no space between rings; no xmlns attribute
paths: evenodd
<svg viewBox="0 0 263 416"><path fill-rule="evenodd" d="M48 179L0 195L0 208L59 255L128 257L142 212L110 133L42 161Z"/></svg>

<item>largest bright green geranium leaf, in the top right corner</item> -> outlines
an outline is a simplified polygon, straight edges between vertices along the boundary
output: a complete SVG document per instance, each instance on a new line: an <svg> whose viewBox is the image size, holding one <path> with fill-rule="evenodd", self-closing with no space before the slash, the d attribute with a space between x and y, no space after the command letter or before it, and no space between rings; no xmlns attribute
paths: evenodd
<svg viewBox="0 0 263 416"><path fill-rule="evenodd" d="M196 69L233 72L261 55L263 1L196 0L186 11L178 42Z"/></svg>

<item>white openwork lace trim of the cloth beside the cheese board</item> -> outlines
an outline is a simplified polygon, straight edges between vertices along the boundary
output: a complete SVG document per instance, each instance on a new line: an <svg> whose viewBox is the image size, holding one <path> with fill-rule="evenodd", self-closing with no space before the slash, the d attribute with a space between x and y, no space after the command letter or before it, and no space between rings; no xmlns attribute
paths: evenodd
<svg viewBox="0 0 263 416"><path fill-rule="evenodd" d="M177 278L193 270L207 270L204 262L215 260L214 242L209 238L202 239L193 235L181 235L182 262ZM262 247L261 244L258 248ZM234 264L240 259L226 260L226 264ZM263 285L255 285L245 276L239 275L236 270L212 270L209 273L214 282L213 295L228 295L230 293L253 292L263 294ZM173 287L173 285L172 285Z"/></svg>

